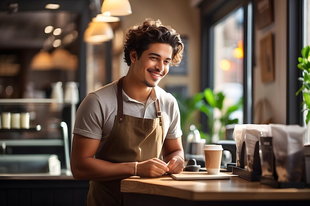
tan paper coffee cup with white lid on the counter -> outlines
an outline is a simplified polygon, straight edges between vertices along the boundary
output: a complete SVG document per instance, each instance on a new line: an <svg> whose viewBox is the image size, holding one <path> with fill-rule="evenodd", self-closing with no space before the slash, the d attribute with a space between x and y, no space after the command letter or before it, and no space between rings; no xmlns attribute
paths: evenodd
<svg viewBox="0 0 310 206"><path fill-rule="evenodd" d="M222 145L205 145L205 160L208 174L218 174L221 168Z"/></svg>

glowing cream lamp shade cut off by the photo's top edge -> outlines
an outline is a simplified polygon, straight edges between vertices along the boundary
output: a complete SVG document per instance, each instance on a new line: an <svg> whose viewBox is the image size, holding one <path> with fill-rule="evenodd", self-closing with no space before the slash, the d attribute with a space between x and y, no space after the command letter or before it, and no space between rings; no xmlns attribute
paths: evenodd
<svg viewBox="0 0 310 206"><path fill-rule="evenodd" d="M127 16L132 13L129 0L103 0L101 12L105 16Z"/></svg>

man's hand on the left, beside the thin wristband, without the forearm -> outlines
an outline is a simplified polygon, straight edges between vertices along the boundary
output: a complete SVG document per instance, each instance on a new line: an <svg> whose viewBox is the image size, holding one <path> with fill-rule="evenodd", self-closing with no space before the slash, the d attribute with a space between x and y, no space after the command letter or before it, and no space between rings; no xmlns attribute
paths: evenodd
<svg viewBox="0 0 310 206"><path fill-rule="evenodd" d="M159 177L169 171L167 164L158 158L153 158L137 165L137 175L140 177Z"/></svg>

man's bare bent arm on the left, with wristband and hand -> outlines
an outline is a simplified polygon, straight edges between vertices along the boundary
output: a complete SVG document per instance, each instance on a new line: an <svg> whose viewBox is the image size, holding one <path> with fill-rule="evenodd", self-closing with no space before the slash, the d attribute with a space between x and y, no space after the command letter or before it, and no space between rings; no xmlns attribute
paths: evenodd
<svg viewBox="0 0 310 206"><path fill-rule="evenodd" d="M74 134L71 151L71 171L75 179L110 181L123 179L135 174L135 162L110 163L94 158L100 140ZM156 177L168 169L166 164L157 159L151 159L137 165L137 175Z"/></svg>

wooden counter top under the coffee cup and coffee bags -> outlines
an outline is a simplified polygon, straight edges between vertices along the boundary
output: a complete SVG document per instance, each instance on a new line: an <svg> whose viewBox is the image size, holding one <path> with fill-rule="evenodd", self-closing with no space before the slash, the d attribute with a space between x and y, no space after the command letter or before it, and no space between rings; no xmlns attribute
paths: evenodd
<svg viewBox="0 0 310 206"><path fill-rule="evenodd" d="M273 188L238 176L228 180L174 180L129 177L121 181L121 192L161 195L191 201L310 200L310 188Z"/></svg>

